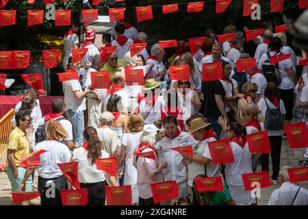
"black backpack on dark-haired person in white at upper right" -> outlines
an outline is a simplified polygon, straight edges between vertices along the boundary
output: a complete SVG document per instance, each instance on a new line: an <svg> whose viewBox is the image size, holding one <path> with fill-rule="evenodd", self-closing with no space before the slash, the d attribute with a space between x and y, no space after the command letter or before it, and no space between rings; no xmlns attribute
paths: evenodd
<svg viewBox="0 0 308 219"><path fill-rule="evenodd" d="M274 55L281 55L283 53L277 52ZM268 82L274 82L279 85L281 82L281 73L279 71L278 63L270 64L270 52L266 52L268 59L262 64L262 73Z"/></svg>

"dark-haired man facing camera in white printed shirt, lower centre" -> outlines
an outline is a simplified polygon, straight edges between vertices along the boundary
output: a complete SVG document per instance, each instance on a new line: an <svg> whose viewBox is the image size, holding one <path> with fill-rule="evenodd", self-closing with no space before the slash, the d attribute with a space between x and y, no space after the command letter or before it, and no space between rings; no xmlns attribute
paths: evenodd
<svg viewBox="0 0 308 219"><path fill-rule="evenodd" d="M185 166L185 159L171 148L191 145L193 148L198 144L190 133L181 132L177 129L177 118L175 116L166 116L163 121L165 129L165 137L156 143L159 160L167 162L168 166L164 170L164 180L177 181L179 186L179 197L185 197L188 194L187 184L187 168ZM162 205L170 205L170 201L162 203Z"/></svg>

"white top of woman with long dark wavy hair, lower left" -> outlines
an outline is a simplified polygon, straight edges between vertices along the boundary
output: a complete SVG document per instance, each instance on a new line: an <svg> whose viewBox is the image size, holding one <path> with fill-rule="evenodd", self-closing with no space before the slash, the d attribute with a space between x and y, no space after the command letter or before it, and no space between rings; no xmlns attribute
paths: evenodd
<svg viewBox="0 0 308 219"><path fill-rule="evenodd" d="M99 159L108 158L109 153L101 150ZM73 162L78 162L78 179L79 183L99 183L105 181L105 172L97 169L97 164L91 165L88 159L88 151L82 146L75 149L73 153Z"/></svg>

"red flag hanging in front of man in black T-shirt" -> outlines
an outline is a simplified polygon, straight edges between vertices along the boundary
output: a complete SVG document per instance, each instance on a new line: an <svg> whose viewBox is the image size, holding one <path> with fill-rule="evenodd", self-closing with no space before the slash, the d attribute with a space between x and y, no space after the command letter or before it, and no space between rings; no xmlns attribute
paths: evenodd
<svg viewBox="0 0 308 219"><path fill-rule="evenodd" d="M222 78L222 62L205 63L202 66L203 81L215 81Z"/></svg>

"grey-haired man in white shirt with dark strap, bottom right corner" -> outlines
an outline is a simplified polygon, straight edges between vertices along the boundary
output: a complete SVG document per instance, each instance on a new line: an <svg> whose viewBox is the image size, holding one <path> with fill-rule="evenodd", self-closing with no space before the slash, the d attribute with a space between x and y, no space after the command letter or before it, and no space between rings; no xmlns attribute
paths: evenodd
<svg viewBox="0 0 308 219"><path fill-rule="evenodd" d="M280 188L274 190L268 205L308 205L308 191L290 182L287 170L290 166L283 166L279 172Z"/></svg>

